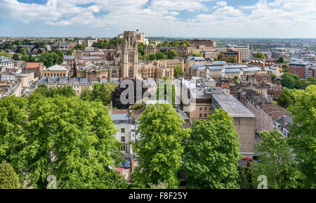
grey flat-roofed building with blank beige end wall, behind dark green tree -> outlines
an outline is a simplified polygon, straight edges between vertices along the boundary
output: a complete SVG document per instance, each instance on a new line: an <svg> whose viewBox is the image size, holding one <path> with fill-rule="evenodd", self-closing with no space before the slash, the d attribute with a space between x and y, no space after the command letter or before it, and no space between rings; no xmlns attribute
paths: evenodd
<svg viewBox="0 0 316 203"><path fill-rule="evenodd" d="M236 132L239 135L240 153L243 157L254 155L255 115L232 95L213 94L212 109L222 108L232 117Z"/></svg>

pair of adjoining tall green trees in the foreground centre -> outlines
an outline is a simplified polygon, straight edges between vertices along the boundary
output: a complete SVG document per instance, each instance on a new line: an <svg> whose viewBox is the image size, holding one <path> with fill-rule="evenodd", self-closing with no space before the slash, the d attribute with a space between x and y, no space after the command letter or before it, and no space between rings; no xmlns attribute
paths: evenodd
<svg viewBox="0 0 316 203"><path fill-rule="evenodd" d="M238 135L228 112L216 110L209 120L183 129L183 119L167 104L151 105L140 115L141 139L133 143L139 155L132 174L139 188L165 183L179 188L240 188Z"/></svg>

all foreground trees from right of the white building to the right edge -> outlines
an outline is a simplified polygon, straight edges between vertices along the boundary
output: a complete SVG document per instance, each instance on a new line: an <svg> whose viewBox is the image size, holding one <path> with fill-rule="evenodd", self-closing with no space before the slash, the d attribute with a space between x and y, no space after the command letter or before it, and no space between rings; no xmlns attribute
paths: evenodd
<svg viewBox="0 0 316 203"><path fill-rule="evenodd" d="M183 121L171 105L152 105L140 116L140 140L133 143L138 166L135 187L164 185L179 188L257 188L258 176L268 188L315 188L316 86L296 90L291 138L278 131L261 132L256 146L259 161L238 166L238 135L228 112L216 110L209 119L182 129ZM294 156L296 155L296 156Z"/></svg>

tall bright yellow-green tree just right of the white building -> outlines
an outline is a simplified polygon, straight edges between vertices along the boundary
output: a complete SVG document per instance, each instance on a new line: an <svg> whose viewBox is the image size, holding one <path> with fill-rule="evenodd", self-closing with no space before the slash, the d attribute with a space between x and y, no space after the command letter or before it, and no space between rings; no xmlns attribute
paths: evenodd
<svg viewBox="0 0 316 203"><path fill-rule="evenodd" d="M178 188L178 170L183 154L183 139L189 136L189 129L183 129L183 119L169 104L147 107L139 117L140 140L133 143L137 153L138 166L133 181L141 188L160 182L168 188Z"/></svg>

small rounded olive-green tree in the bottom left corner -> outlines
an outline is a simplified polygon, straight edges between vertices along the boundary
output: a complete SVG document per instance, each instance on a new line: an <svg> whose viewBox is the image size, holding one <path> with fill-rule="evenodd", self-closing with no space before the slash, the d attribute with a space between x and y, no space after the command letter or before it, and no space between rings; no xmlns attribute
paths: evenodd
<svg viewBox="0 0 316 203"><path fill-rule="evenodd" d="M19 189L19 178L5 160L0 164L0 189Z"/></svg>

